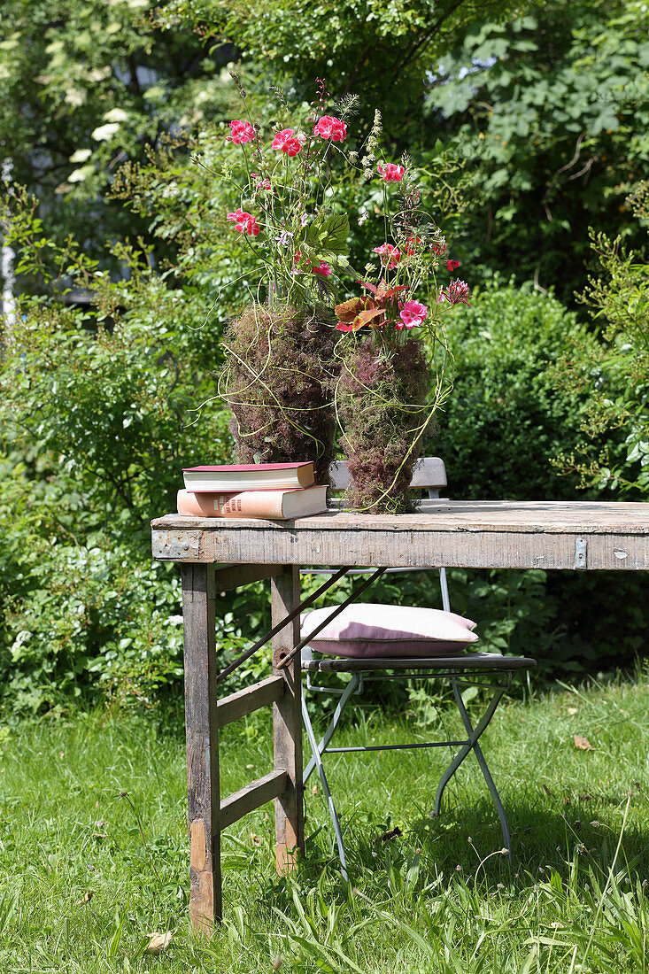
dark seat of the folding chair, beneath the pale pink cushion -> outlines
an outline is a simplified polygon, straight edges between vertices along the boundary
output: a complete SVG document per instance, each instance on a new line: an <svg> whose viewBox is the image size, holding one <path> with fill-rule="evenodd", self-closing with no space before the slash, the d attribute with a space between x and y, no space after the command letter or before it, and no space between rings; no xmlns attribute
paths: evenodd
<svg viewBox="0 0 649 974"><path fill-rule="evenodd" d="M377 670L509 670L531 669L536 659L527 656L501 656L499 653L462 653L456 656L399 656L389 659L385 656L375 658L350 659L332 656L305 658L302 669L310 673L370 673Z"/></svg>

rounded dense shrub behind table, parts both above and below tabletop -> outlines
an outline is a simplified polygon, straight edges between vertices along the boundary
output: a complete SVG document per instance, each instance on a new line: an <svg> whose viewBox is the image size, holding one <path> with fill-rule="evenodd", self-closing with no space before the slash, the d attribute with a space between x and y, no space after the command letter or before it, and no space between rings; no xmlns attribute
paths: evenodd
<svg viewBox="0 0 649 974"><path fill-rule="evenodd" d="M453 318L447 337L454 388L427 452L446 463L449 497L619 499L610 483L585 491L578 469L555 463L578 448L591 415L596 376L568 385L554 369L576 347L600 356L586 325L552 295L496 283ZM614 426L595 432L600 447L624 443ZM547 675L630 665L646 645L647 581L635 573L453 571L450 587L457 611L490 620L497 641L485 649L536 656Z"/></svg>

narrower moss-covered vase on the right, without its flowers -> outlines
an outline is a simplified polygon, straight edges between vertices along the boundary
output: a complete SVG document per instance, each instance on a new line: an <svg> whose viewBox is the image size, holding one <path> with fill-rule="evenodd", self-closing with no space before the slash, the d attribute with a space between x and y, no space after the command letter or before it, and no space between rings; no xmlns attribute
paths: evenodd
<svg viewBox="0 0 649 974"><path fill-rule="evenodd" d="M351 352L337 393L351 477L348 506L370 513L414 509L408 486L422 440L414 448L413 441L426 420L429 387L429 363L415 339L389 355L371 339Z"/></svg>

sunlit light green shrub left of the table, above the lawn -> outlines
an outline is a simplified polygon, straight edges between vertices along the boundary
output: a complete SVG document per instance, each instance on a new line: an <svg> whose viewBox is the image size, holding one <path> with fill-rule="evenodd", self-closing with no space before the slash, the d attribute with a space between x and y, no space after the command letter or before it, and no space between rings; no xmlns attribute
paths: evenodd
<svg viewBox="0 0 649 974"><path fill-rule="evenodd" d="M21 298L4 332L2 702L51 707L92 682L149 702L181 676L181 638L176 572L151 563L148 521L172 509L182 467L230 445L222 414L188 429L216 335L190 327L203 298L165 287L133 250L116 248L128 286L111 282L45 237L26 197L11 204L19 267L35 262L50 296ZM65 305L65 281L93 285L90 312Z"/></svg>

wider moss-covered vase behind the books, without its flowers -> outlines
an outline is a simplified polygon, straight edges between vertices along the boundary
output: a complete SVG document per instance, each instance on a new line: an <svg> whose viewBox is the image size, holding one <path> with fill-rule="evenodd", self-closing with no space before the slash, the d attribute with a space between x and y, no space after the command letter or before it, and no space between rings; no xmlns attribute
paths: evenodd
<svg viewBox="0 0 649 974"><path fill-rule="evenodd" d="M313 460L328 483L336 332L325 314L250 305L228 326L223 397L241 464Z"/></svg>

